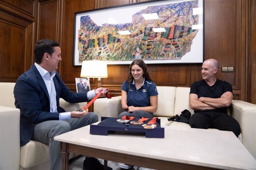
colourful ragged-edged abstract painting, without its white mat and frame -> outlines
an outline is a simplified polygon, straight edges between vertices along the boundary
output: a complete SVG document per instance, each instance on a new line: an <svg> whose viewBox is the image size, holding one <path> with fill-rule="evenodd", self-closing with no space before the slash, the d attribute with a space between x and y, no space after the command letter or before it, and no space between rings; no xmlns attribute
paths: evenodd
<svg viewBox="0 0 256 170"><path fill-rule="evenodd" d="M198 29L199 15L193 15L198 0L147 6L132 14L130 23L103 23L90 15L81 16L78 30L78 62L84 60L132 61L181 59L190 52ZM158 19L145 20L142 14L156 13ZM118 13L116 14L118 15ZM155 32L153 28L164 28ZM131 34L121 35L118 31Z"/></svg>

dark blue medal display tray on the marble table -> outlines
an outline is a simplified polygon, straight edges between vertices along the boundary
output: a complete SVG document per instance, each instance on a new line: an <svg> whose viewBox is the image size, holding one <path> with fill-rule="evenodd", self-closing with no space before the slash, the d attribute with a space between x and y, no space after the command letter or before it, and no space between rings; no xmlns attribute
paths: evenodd
<svg viewBox="0 0 256 170"><path fill-rule="evenodd" d="M121 134L142 134L145 137L164 138L164 128L161 128L160 119L157 119L154 129L145 129L142 125L147 124L151 119L145 121L142 125L133 125L130 122L138 121L133 119L128 123L120 123L117 118L101 117L98 125L90 125L90 134L92 135L108 135L109 133Z"/></svg>

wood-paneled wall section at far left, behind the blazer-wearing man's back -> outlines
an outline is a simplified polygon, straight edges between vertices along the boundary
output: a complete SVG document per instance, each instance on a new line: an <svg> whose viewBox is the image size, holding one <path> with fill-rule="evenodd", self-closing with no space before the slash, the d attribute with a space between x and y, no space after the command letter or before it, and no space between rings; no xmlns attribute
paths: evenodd
<svg viewBox="0 0 256 170"><path fill-rule="evenodd" d="M36 1L0 1L0 81L16 82L32 64Z"/></svg>

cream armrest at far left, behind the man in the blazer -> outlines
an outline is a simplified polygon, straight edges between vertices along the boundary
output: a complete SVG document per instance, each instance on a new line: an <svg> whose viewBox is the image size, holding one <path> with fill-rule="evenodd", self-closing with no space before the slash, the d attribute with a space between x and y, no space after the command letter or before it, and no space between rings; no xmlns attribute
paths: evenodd
<svg viewBox="0 0 256 170"><path fill-rule="evenodd" d="M20 109L0 106L0 169L20 167Z"/></svg>

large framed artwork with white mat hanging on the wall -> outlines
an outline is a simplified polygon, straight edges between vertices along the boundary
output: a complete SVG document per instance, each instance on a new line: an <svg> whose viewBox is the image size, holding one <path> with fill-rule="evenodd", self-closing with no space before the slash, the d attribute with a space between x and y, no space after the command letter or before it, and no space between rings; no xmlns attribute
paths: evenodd
<svg viewBox="0 0 256 170"><path fill-rule="evenodd" d="M73 65L201 63L204 0L154 0L75 13Z"/></svg>

